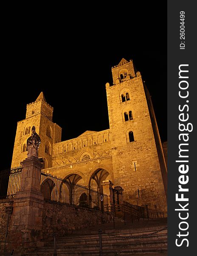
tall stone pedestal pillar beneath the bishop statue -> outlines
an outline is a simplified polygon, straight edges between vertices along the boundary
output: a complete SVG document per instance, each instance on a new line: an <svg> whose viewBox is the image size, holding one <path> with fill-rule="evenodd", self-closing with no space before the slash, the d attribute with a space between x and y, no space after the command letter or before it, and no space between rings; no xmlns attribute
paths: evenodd
<svg viewBox="0 0 197 256"><path fill-rule="evenodd" d="M42 246L42 212L44 198L41 193L41 160L27 157L22 163L20 191L14 198L9 240L21 242L23 249Z"/></svg>

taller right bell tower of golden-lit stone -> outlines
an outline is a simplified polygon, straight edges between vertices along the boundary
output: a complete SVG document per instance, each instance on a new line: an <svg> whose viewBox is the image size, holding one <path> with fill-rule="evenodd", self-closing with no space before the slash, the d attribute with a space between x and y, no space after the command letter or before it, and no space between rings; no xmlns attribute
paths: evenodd
<svg viewBox="0 0 197 256"><path fill-rule="evenodd" d="M166 210L166 165L149 92L132 60L123 58L112 75L106 91L115 184L125 201Z"/></svg>

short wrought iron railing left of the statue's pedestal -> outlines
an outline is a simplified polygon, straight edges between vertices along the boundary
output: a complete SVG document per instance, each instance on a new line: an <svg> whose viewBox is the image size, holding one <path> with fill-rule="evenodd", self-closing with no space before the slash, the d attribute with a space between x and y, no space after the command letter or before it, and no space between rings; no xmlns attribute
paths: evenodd
<svg viewBox="0 0 197 256"><path fill-rule="evenodd" d="M20 189L22 167L0 172L0 198L14 198Z"/></svg>

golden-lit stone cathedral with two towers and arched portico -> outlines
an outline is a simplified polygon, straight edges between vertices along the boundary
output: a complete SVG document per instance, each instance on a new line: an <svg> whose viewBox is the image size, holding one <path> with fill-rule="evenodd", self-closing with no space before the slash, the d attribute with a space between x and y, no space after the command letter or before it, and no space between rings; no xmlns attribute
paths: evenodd
<svg viewBox="0 0 197 256"><path fill-rule="evenodd" d="M166 211L166 162L149 91L131 60L123 58L112 76L113 84L106 84L109 129L61 141L62 128L53 123L53 108L40 93L17 124L11 166L27 157L34 125L44 171L100 191L110 180L124 189L124 201Z"/></svg>

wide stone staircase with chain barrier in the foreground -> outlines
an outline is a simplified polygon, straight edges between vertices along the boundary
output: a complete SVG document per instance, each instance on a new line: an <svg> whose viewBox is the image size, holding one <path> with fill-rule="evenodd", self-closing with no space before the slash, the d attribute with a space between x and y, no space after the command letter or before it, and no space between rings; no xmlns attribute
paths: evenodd
<svg viewBox="0 0 197 256"><path fill-rule="evenodd" d="M116 221L113 224L103 224L78 230L66 237L56 237L57 256L101 256L99 254L99 235L102 233L102 256L128 256L128 255L167 255L167 229L143 238L127 238L154 233L167 227L166 219L155 219L129 223L124 225ZM45 247L29 253L29 256L53 256L53 241L45 242Z"/></svg>

